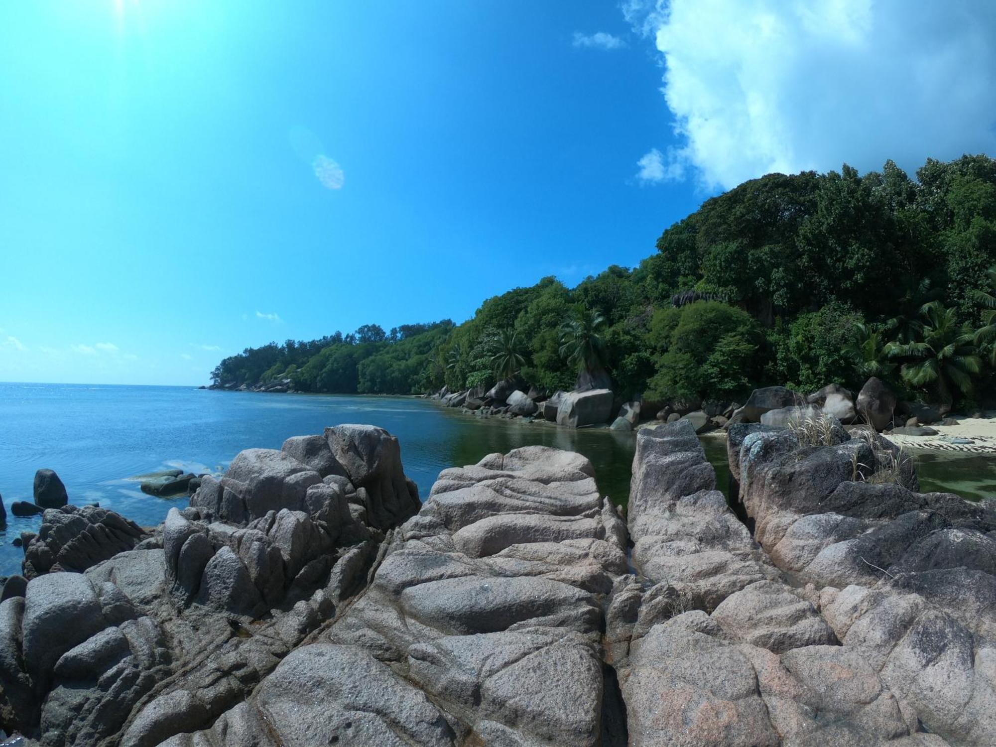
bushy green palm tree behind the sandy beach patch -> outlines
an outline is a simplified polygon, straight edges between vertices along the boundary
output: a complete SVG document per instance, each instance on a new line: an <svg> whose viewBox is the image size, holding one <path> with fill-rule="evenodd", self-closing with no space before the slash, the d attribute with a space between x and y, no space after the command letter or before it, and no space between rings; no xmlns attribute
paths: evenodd
<svg viewBox="0 0 996 747"><path fill-rule="evenodd" d="M952 385L963 393L972 390L972 376L982 371L976 355L975 333L959 324L954 309L939 301L924 304L920 321L913 327L913 340L887 346L890 358L905 359L900 373L913 386L934 384L944 403L951 403Z"/></svg>

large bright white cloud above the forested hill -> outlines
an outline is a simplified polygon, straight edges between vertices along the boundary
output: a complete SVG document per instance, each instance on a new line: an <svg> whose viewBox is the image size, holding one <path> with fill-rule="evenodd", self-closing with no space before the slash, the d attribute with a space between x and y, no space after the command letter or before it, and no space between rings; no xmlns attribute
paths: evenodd
<svg viewBox="0 0 996 747"><path fill-rule="evenodd" d="M913 171L928 156L996 153L994 3L622 7L637 31L655 33L663 57L682 141L661 161L665 174L691 167L714 189L772 171L869 170L887 158Z"/></svg>

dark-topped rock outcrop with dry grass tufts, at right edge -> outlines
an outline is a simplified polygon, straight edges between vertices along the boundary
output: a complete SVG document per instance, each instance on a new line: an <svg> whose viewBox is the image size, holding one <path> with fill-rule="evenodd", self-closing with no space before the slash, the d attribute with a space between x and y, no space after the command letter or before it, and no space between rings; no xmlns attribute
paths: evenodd
<svg viewBox="0 0 996 747"><path fill-rule="evenodd" d="M837 425L813 442L737 425L729 449L755 537L902 719L991 744L996 507L915 492L911 464L869 430Z"/></svg>

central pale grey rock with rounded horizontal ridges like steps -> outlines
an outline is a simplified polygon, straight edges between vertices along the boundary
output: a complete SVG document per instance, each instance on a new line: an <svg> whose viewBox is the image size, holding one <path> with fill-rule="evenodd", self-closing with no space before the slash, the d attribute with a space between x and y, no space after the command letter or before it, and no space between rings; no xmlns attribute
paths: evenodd
<svg viewBox="0 0 996 747"><path fill-rule="evenodd" d="M532 446L444 470L388 542L327 633L168 744L603 743L625 530L587 459Z"/></svg>

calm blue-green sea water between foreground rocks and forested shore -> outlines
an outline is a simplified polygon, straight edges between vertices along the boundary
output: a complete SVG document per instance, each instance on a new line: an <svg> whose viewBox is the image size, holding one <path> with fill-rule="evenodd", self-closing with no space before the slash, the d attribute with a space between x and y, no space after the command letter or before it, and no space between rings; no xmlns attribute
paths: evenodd
<svg viewBox="0 0 996 747"><path fill-rule="evenodd" d="M32 500L40 467L59 473L71 503L99 502L149 526L188 499L145 495L128 478L170 467L220 472L244 448L280 448L289 436L321 433L327 425L347 422L371 423L396 435L404 471L423 498L440 470L530 444L585 454L595 465L603 493L617 503L629 494L632 433L482 420L412 397L0 383L0 494L8 507L6 531L0 530L0 576L19 572L22 551L11 542L41 523L39 517L9 513L13 501ZM716 466L717 485L725 490L725 441L705 437L703 443ZM949 490L976 500L996 493L993 457L916 458L923 490Z"/></svg>

